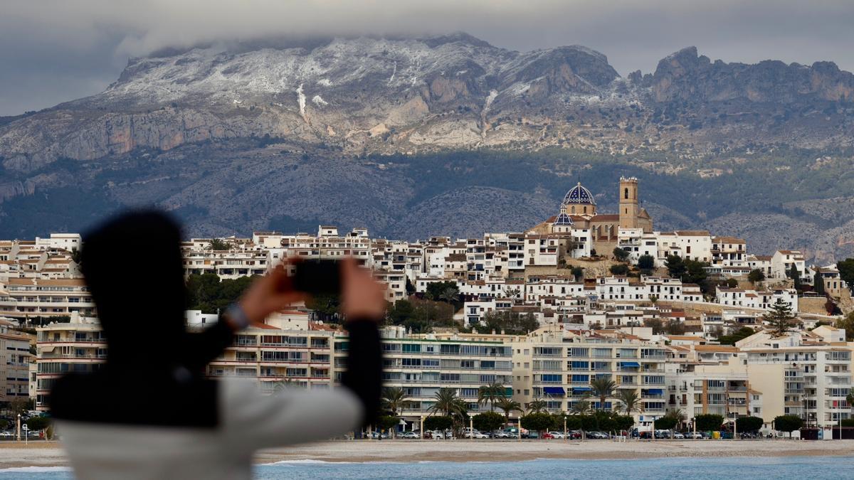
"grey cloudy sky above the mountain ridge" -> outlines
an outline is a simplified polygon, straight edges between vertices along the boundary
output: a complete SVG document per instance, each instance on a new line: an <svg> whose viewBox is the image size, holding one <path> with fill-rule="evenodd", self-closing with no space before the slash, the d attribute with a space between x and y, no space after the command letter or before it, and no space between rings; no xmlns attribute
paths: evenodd
<svg viewBox="0 0 854 480"><path fill-rule="evenodd" d="M512 50L586 45L623 75L688 45L724 61L854 70L851 0L2 0L0 115L102 91L128 56L167 46L459 31Z"/></svg>

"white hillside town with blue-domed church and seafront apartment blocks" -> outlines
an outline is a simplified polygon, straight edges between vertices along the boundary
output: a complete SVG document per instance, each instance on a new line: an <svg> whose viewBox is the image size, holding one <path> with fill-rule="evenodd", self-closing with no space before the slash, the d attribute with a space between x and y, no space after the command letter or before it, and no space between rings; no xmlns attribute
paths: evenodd
<svg viewBox="0 0 854 480"><path fill-rule="evenodd" d="M639 429L668 414L683 426L757 417L764 431L781 415L819 430L851 418L845 268L808 265L797 250L759 255L710 231L656 231L635 178L621 178L617 196L618 212L601 213L579 183L529 230L477 238L397 241L333 225L191 238L186 321L217 322L249 278L284 259L351 256L386 286L384 383L402 392L401 431L419 430L448 389L469 413L503 409L511 424L585 402ZM0 401L45 411L56 378L106 358L82 249L71 233L0 241ZM115 263L119 281L126 264ZM254 378L270 393L334 387L342 321L335 296L294 304L240 332L208 375ZM484 401L485 387L500 391Z"/></svg>

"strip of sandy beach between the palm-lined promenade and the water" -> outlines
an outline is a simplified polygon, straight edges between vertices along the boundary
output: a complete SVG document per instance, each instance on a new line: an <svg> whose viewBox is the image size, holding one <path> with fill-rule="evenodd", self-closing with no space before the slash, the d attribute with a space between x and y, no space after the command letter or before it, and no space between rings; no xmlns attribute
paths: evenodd
<svg viewBox="0 0 854 480"><path fill-rule="evenodd" d="M383 440L337 441L259 452L255 461L324 460L366 462L419 460L510 461L534 459L636 459L661 457L780 457L854 455L854 440ZM57 442L0 443L0 469L21 466L64 466Z"/></svg>

